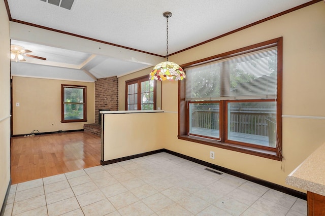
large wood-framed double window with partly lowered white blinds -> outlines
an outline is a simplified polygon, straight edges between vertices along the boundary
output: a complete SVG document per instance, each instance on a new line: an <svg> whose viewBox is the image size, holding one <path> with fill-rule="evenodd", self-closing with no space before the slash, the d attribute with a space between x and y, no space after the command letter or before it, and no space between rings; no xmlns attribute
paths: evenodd
<svg viewBox="0 0 325 216"><path fill-rule="evenodd" d="M179 138L281 160L282 38L196 61L185 73Z"/></svg>

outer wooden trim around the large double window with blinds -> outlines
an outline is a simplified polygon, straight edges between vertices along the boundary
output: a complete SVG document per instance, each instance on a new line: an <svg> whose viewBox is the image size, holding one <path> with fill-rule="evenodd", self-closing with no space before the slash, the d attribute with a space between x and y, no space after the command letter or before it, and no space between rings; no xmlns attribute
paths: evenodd
<svg viewBox="0 0 325 216"><path fill-rule="evenodd" d="M255 155L259 157L269 158L273 160L282 161L282 37L272 39L266 42L258 43L255 45L247 46L244 48L240 48L237 50L233 50L230 52L225 52L222 54L218 54L215 56L211 56L208 58L204 58L201 60L189 62L186 64L181 65L181 67L188 67L193 65L200 65L209 61L213 61L215 59L223 59L230 56L236 56L243 53L251 52L251 50L259 50L259 49L265 49L268 47L277 46L278 54L277 54L277 114L276 114L276 121L277 121L277 148L275 151L270 151L268 148L255 148L254 146L244 146L239 145L239 143L236 142L225 142L224 138L221 139L221 141L212 140L204 137L197 137L197 136L189 136L189 119L188 117L188 109L187 109L187 101L185 100L185 82L178 81L178 138L186 141L192 141L201 143L208 146L218 147L222 149L228 149L236 152L241 152L245 154ZM222 102L220 103L220 109L226 108L226 103ZM220 122L225 122L226 119L224 119L225 116L220 115ZM224 127L224 124L220 125L220 130L224 133L225 129L221 128ZM225 134L223 136L225 137Z"/></svg>

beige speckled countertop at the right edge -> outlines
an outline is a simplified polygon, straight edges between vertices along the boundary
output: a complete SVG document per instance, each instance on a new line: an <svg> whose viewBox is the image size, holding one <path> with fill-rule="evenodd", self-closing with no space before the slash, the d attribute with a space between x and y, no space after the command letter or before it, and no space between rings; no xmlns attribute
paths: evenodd
<svg viewBox="0 0 325 216"><path fill-rule="evenodd" d="M325 143L285 178L286 184L325 196Z"/></svg>

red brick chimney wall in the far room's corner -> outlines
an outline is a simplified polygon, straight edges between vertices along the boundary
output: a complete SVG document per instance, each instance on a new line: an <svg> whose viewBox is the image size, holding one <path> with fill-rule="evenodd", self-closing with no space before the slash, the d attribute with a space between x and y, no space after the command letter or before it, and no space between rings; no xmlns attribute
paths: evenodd
<svg viewBox="0 0 325 216"><path fill-rule="evenodd" d="M99 123L99 109L118 110L117 77L101 78L95 82L95 123Z"/></svg>

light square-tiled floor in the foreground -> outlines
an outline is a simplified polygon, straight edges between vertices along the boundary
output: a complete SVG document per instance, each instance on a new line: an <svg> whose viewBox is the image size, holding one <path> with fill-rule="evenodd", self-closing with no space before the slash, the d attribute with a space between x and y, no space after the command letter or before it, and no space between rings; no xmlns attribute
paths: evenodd
<svg viewBox="0 0 325 216"><path fill-rule="evenodd" d="M12 185L5 215L307 215L307 202L168 153Z"/></svg>

